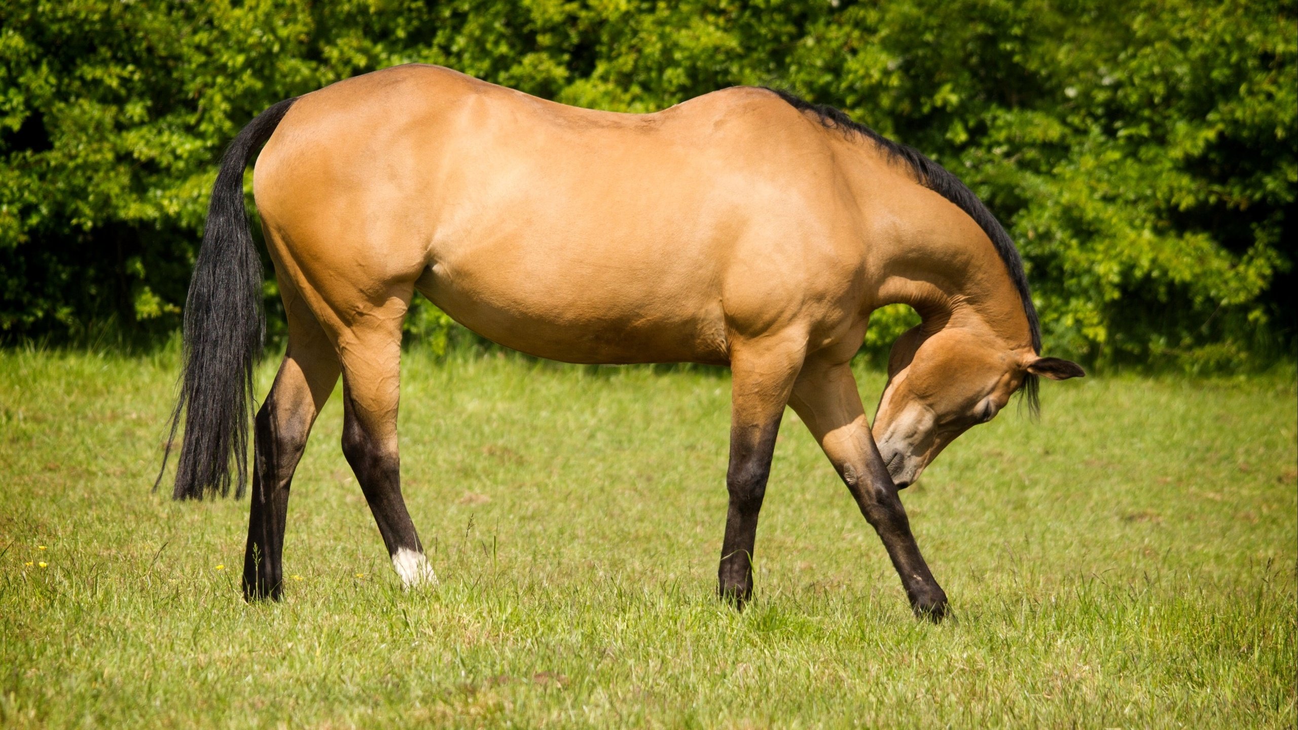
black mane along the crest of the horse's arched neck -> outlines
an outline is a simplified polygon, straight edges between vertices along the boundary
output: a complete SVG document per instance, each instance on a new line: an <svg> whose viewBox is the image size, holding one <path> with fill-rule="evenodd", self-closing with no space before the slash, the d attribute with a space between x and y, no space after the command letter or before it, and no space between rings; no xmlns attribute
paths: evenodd
<svg viewBox="0 0 1298 730"><path fill-rule="evenodd" d="M945 168L925 157L923 152L914 147L896 143L866 125L851 121L851 117L841 109L835 109L826 104L813 104L788 91L770 87L762 88L785 100L798 112L811 112L820 120L820 123L826 129L841 130L848 135L859 134L870 139L893 160L906 162L915 173L919 184L959 205L961 210L964 210L974 218L983 227L986 236L992 239L996 252L1001 255L1001 261L1005 261L1005 268L1010 271L1010 279L1014 282L1014 287L1019 290L1019 297L1023 300L1023 313L1028 316L1028 327L1032 330L1032 349L1037 355L1041 353L1041 322L1037 320L1037 308L1032 304L1032 292L1028 288L1028 275L1023 270L1023 258L1019 256L1019 249L1015 248L1010 234L1005 233L1005 227L986 209L986 205L974 195L974 191ZM1028 405L1033 412L1037 410L1037 377L1029 373L1023 381L1023 392L1027 395Z"/></svg>

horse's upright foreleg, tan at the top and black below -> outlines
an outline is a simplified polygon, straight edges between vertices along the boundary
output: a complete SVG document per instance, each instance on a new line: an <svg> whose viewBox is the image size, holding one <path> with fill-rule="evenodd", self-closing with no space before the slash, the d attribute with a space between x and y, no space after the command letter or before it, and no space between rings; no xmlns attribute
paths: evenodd
<svg viewBox="0 0 1298 730"><path fill-rule="evenodd" d="M753 596L757 516L780 417L801 365L801 339L735 347L731 352L731 449L726 472L729 507L716 581L720 596L739 608Z"/></svg>

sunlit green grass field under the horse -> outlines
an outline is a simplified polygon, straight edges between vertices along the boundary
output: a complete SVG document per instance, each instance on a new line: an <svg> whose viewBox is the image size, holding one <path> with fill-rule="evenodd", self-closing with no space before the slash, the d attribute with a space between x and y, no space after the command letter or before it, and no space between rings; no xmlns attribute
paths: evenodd
<svg viewBox="0 0 1298 730"><path fill-rule="evenodd" d="M713 599L728 375L513 356L406 355L439 587L398 587L335 395L287 599L247 605L247 500L149 491L174 368L0 353L5 727L1295 722L1290 377L1046 383L1038 423L962 436L903 492L958 616L932 626L792 412L739 614Z"/></svg>

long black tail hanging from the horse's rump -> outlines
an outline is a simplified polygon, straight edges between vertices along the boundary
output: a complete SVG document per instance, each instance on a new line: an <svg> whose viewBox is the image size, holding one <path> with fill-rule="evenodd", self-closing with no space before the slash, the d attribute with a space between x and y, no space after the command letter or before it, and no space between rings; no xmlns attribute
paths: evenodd
<svg viewBox="0 0 1298 730"><path fill-rule="evenodd" d="M252 156L293 105L286 99L262 112L235 136L221 158L208 205L208 226L193 265L184 303L184 365L180 395L171 412L162 481L171 440L184 413L184 443L175 472L175 499L230 494L230 459L238 479L235 496L248 483L248 420L252 370L266 331L262 312L261 257L248 229L243 174Z"/></svg>

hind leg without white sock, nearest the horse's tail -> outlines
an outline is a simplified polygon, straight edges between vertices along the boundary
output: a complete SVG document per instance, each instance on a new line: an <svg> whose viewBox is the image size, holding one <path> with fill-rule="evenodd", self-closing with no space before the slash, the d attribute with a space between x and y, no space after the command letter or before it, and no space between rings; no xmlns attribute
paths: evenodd
<svg viewBox="0 0 1298 730"><path fill-rule="evenodd" d="M278 600L283 592L284 518L293 470L306 448L312 423L337 382L334 346L286 290L288 352L275 384L257 412L254 431L252 508L248 514L248 549L244 555L244 598Z"/></svg>

